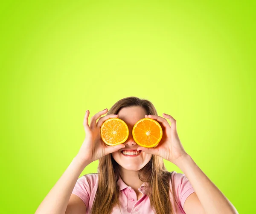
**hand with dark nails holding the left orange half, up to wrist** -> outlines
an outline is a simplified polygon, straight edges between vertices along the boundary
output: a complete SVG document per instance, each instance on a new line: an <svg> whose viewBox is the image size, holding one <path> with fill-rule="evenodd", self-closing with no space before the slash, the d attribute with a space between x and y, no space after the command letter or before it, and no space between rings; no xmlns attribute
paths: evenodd
<svg viewBox="0 0 256 214"><path fill-rule="evenodd" d="M124 144L119 144L116 146L108 146L106 145L100 135L100 127L109 118L117 118L119 115L116 114L108 114L104 117L101 117L103 114L106 114L108 109L106 108L103 111L99 111L97 114L91 117L90 126L88 124L88 117L90 111L87 110L84 116L84 130L85 130L85 139L84 142L77 154L79 160L82 163L91 163L95 160L100 159L101 157L110 154L114 151L118 151L120 148L125 148ZM101 117L99 119L99 117ZM98 120L99 119L99 120ZM96 123L96 120L98 122Z"/></svg>

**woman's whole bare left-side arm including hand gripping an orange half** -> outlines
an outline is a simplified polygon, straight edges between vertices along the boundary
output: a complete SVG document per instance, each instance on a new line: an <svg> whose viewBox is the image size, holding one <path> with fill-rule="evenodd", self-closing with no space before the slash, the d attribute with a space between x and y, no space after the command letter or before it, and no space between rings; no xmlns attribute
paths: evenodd
<svg viewBox="0 0 256 214"><path fill-rule="evenodd" d="M84 142L76 157L72 160L64 174L60 177L57 183L53 186L53 188L41 202L35 211L35 214L84 213L84 203L81 202L81 199L78 196L72 194L79 175L88 164L100 159L107 154L118 151L120 148L125 147L123 144L107 146L102 141L100 136L100 127L102 123L104 123L104 121L108 120L109 118L118 117L118 115L115 114L108 114L99 118L107 112L106 110L107 108L91 117L90 126L88 124L90 111L86 111L83 123L86 133ZM96 120L98 120L97 123Z"/></svg>

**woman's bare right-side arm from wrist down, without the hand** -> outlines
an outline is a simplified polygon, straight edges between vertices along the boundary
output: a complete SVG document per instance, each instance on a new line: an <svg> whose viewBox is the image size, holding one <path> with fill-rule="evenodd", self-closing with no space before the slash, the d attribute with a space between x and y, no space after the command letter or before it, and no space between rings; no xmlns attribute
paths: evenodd
<svg viewBox="0 0 256 214"><path fill-rule="evenodd" d="M205 214L238 214L233 204L204 174L192 157L185 154L180 157L176 165L183 171L195 190L193 196L191 194L184 204L186 213L199 213L198 210L200 210L200 213Z"/></svg>

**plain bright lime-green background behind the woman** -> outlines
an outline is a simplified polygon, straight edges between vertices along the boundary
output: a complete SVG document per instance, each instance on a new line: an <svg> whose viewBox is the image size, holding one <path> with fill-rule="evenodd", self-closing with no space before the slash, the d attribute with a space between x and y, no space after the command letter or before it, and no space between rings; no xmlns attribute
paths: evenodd
<svg viewBox="0 0 256 214"><path fill-rule="evenodd" d="M86 109L137 96L177 120L184 148L239 213L255 213L255 9L2 2L1 212L35 213L79 151Z"/></svg>

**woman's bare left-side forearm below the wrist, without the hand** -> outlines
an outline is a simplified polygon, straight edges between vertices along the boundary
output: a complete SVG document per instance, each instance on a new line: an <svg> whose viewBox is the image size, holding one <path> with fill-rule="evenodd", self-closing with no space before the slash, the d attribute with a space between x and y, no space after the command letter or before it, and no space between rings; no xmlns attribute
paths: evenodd
<svg viewBox="0 0 256 214"><path fill-rule="evenodd" d="M35 214L65 214L76 181L88 164L89 162L82 162L75 157L41 202Z"/></svg>

